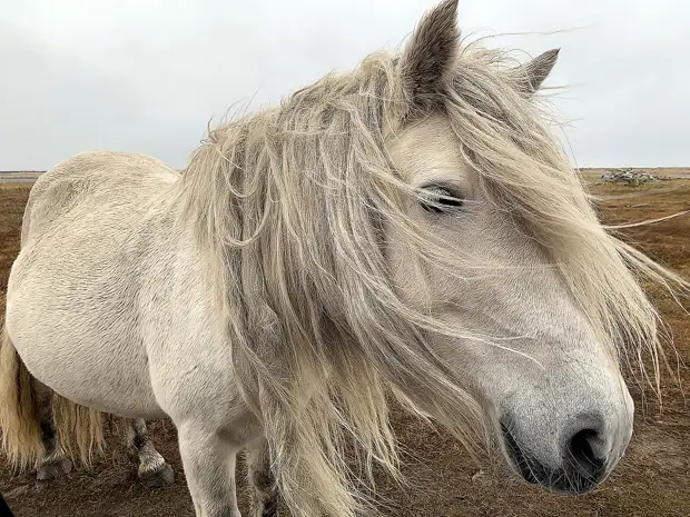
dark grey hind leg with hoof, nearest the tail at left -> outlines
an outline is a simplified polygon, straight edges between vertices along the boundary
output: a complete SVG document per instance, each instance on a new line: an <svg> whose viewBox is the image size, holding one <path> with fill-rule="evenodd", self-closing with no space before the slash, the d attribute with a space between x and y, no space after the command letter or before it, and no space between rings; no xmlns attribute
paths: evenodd
<svg viewBox="0 0 690 517"><path fill-rule="evenodd" d="M36 394L36 410L38 411L41 441L43 443L43 456L38 460L36 479L47 481L68 474L72 468L72 463L65 457L58 443L52 412L52 390L34 378L31 379L31 382Z"/></svg>

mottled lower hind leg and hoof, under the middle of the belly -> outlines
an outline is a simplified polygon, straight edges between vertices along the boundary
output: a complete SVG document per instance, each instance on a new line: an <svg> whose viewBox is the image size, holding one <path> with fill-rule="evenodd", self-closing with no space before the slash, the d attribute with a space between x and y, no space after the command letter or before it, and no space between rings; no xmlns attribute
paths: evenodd
<svg viewBox="0 0 690 517"><path fill-rule="evenodd" d="M127 448L139 461L138 476L147 487L162 487L174 481L172 468L154 447L142 418L129 420Z"/></svg>

